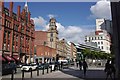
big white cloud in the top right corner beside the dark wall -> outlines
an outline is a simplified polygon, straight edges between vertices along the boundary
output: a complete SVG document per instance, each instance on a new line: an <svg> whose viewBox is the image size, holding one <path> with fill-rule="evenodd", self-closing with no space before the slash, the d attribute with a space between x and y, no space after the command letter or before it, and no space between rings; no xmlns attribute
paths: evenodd
<svg viewBox="0 0 120 80"><path fill-rule="evenodd" d="M100 0L90 8L91 15L89 18L111 19L110 1Z"/></svg>

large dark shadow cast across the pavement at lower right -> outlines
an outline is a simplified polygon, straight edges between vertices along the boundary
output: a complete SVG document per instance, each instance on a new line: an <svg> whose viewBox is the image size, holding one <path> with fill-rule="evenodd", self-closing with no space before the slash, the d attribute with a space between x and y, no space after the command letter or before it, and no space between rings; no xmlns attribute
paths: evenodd
<svg viewBox="0 0 120 80"><path fill-rule="evenodd" d="M105 80L106 78L106 74L103 70L95 70L95 69L87 70L86 77L84 77L83 70L80 71L80 70L68 68L61 70L61 72L83 80Z"/></svg>

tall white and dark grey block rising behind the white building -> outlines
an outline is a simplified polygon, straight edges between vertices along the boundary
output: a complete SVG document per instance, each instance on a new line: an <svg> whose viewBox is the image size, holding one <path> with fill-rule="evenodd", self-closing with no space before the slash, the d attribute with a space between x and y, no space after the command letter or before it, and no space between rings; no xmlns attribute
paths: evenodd
<svg viewBox="0 0 120 80"><path fill-rule="evenodd" d="M112 21L106 19L96 19L96 31L106 30L109 34L113 34Z"/></svg>

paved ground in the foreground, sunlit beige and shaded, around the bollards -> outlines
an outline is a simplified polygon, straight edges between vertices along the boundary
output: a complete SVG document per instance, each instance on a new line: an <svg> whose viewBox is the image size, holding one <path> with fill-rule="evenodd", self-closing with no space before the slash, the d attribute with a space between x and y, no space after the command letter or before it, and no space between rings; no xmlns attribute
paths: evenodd
<svg viewBox="0 0 120 80"><path fill-rule="evenodd" d="M61 71L53 71L52 73L47 73L45 70L45 74L42 75L42 71L39 72L39 76L37 76L37 72L33 71L33 78L74 78L74 79L80 79L80 80L84 80L84 76L83 76L83 71L80 71L78 68L76 67L70 67L67 69L63 69ZM17 74L15 74L14 78L21 78L22 74L20 72L18 72ZM11 75L6 75L3 76L3 78L11 78ZM25 78L30 78L30 72L25 72ZM87 71L87 75L86 78L105 78L105 73L103 71L103 68L93 68L90 67Z"/></svg>

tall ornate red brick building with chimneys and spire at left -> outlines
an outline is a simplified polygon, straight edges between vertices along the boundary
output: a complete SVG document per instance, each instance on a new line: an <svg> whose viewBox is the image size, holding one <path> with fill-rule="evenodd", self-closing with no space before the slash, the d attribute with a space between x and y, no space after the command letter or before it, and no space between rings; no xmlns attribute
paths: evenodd
<svg viewBox="0 0 120 80"><path fill-rule="evenodd" d="M13 7L13 2L10 2L9 8L0 2L0 54L22 62L29 57L30 62L30 57L34 55L34 22L30 19L27 3L22 12L18 6L17 13L14 13Z"/></svg>

